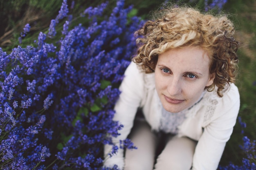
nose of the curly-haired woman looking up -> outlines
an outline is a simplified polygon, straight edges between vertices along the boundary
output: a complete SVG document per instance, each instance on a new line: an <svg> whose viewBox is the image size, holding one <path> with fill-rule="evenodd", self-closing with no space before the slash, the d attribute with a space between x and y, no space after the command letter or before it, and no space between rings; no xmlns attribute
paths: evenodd
<svg viewBox="0 0 256 170"><path fill-rule="evenodd" d="M182 92L182 82L179 77L171 76L170 81L168 82L167 92L170 97L179 95Z"/></svg>

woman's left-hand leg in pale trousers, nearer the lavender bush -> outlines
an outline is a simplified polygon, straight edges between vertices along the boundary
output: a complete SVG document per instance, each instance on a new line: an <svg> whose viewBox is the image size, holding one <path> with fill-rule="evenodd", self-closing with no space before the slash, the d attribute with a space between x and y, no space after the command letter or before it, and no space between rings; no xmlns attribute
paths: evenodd
<svg viewBox="0 0 256 170"><path fill-rule="evenodd" d="M126 150L124 170L153 170L157 137L145 121L137 121L130 134L138 148Z"/></svg>

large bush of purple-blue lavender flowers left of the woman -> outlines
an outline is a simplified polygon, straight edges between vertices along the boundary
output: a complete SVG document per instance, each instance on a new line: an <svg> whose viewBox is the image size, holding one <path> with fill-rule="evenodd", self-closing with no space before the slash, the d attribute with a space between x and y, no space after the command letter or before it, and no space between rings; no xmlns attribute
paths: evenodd
<svg viewBox="0 0 256 170"><path fill-rule="evenodd" d="M132 7L125 9L124 0L110 16L103 15L107 5L89 7L79 16L89 21L72 26L79 17L68 15L63 0L49 30L34 43L10 54L0 49L1 169L96 170L103 144L113 145L113 152L133 148L129 140L112 143L122 128L112 117L140 20L127 17ZM28 32L27 24L20 43Z"/></svg>

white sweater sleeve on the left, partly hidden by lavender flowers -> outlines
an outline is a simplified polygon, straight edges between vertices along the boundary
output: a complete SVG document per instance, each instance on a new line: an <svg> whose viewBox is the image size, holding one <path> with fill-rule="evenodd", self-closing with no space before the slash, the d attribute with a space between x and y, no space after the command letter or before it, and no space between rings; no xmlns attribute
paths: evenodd
<svg viewBox="0 0 256 170"><path fill-rule="evenodd" d="M137 64L131 62L126 69L124 76L119 88L121 94L115 105L114 110L116 113L113 118L113 120L119 121L120 124L124 125L124 128L119 131L120 135L118 137L112 137L113 143L118 144L118 146L119 140L124 140L129 135L137 113L137 108L140 106L144 95L143 73L139 70ZM110 145L104 147L104 166L112 167L117 164L120 169L123 169L124 150L119 148L116 155L109 157L108 153L111 152L111 150L112 146Z"/></svg>

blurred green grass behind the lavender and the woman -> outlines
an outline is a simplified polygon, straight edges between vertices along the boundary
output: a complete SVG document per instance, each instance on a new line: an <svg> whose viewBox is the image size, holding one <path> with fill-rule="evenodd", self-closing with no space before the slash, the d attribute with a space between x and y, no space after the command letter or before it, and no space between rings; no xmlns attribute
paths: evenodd
<svg viewBox="0 0 256 170"><path fill-rule="evenodd" d="M71 13L79 16L87 7L96 7L104 1L75 0ZM109 0L109 5L115 6L115 2ZM146 20L162 2L164 0L126 0L126 6L133 4L132 15L141 16ZM203 7L204 0L180 0L180 2L191 2L192 6L196 5L200 8ZM22 40L22 44L31 44L40 31L47 31L50 21L58 14L61 3L62 0L1 0L0 47L7 53L11 52L11 49L18 45L20 32L27 23L30 24L31 31ZM68 0L68 4L71 3L72 0ZM228 0L223 11L231 14L230 19L236 25L235 38L240 41L239 75L236 82L241 99L239 116L247 124L245 135L250 139L256 139L256 0ZM237 123L225 148L221 165L226 165L229 161L238 165L242 163L241 157L244 155L239 144L242 144L242 135L241 127Z"/></svg>

